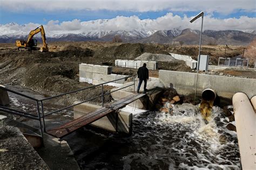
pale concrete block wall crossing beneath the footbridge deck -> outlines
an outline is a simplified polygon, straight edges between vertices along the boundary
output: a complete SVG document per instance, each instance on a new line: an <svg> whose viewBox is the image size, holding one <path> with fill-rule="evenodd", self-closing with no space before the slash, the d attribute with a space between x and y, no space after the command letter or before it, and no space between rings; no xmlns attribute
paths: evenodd
<svg viewBox="0 0 256 170"><path fill-rule="evenodd" d="M78 103L76 101L75 103ZM93 105L89 103L83 103L80 105L75 106L74 109L74 119L77 119L81 117L82 115L85 115L87 113L90 113L92 111L97 110L97 108L100 108L99 105ZM111 114L111 113L110 113ZM116 121L115 115L113 115L113 119L111 118L111 115L107 115L103 118L100 118L99 120L91 123L90 125L103 128L104 130L116 132ZM124 112L124 111L118 111L118 132L124 132L124 133L131 133L132 132L132 113Z"/></svg>

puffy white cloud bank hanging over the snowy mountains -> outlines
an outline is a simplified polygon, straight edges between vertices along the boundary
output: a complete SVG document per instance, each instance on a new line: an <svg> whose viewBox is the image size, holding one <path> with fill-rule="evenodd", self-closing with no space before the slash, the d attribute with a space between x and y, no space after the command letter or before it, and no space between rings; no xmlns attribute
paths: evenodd
<svg viewBox="0 0 256 170"><path fill-rule="evenodd" d="M117 16L112 19L98 19L95 21L81 22L78 19L73 21L49 21L44 25L48 35L62 33L87 33L87 32L105 32L105 31L131 31L131 30L171 30L171 29L186 29L199 30L201 19L190 23L191 18L172 13L167 13L165 16L157 19L139 19L138 16L124 17ZM256 18L241 16L240 18L218 19L211 15L204 17L204 30L241 30L252 31L256 28ZM39 24L29 23L23 26L18 24L0 25L0 35L8 35L21 33L27 35L30 30L35 29Z"/></svg>

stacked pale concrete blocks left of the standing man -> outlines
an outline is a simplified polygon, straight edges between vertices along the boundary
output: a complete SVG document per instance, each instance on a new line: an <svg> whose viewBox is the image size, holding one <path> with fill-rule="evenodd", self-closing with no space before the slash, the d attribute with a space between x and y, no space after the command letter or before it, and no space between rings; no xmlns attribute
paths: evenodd
<svg viewBox="0 0 256 170"><path fill-rule="evenodd" d="M92 64L79 64L79 81L93 85L113 81L127 76L120 74L112 74L111 66L101 66ZM125 79L114 81L111 85L118 86L124 84Z"/></svg>

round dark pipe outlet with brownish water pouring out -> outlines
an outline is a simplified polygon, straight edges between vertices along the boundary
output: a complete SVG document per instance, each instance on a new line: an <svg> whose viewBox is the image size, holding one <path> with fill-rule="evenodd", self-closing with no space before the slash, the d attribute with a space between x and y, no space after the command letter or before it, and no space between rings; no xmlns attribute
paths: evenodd
<svg viewBox="0 0 256 170"><path fill-rule="evenodd" d="M216 98L216 92L212 89L205 89L202 92L202 100L200 103L200 112L203 118L207 121L211 119L212 107Z"/></svg>

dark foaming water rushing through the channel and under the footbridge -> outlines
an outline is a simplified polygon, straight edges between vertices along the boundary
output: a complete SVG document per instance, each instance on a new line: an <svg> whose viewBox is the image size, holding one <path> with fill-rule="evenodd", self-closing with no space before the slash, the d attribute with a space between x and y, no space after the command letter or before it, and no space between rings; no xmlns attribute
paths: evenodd
<svg viewBox="0 0 256 170"><path fill-rule="evenodd" d="M36 111L35 103L30 100L13 94L10 98L11 105L19 110ZM206 124L198 106L167 106L170 113L133 115L133 134L129 137L85 127L64 140L68 141L82 169L241 168L237 133L226 129L228 119L223 116L221 108L213 107L212 119ZM46 110L58 107L51 104ZM56 114L46 124L56 126L65 122L55 120L59 117L66 121L72 113Z"/></svg>

